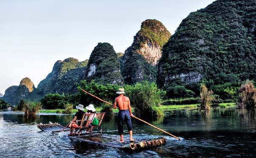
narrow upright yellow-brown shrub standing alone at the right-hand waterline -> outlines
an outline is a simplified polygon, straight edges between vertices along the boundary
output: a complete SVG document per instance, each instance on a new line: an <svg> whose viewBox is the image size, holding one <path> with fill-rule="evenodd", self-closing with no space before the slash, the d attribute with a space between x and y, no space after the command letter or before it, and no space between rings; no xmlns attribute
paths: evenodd
<svg viewBox="0 0 256 158"><path fill-rule="evenodd" d="M213 97L211 97L212 94L213 92L208 91L204 83L202 83L200 92L201 110L210 110L209 104L214 99Z"/></svg>

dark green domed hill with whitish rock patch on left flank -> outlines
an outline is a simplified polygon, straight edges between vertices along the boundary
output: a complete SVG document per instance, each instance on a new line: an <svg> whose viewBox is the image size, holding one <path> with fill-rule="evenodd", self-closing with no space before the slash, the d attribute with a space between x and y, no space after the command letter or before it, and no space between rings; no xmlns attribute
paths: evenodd
<svg viewBox="0 0 256 158"><path fill-rule="evenodd" d="M123 84L118 56L109 43L98 43L90 55L85 79L102 84Z"/></svg>

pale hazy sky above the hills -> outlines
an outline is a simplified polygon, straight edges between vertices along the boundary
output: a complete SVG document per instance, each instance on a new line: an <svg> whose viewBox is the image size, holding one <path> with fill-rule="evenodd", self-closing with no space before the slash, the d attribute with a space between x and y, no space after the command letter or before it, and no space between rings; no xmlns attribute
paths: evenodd
<svg viewBox="0 0 256 158"><path fill-rule="evenodd" d="M37 87L57 60L89 59L99 42L131 46L146 19L175 32L215 0L0 0L0 93L28 77Z"/></svg>

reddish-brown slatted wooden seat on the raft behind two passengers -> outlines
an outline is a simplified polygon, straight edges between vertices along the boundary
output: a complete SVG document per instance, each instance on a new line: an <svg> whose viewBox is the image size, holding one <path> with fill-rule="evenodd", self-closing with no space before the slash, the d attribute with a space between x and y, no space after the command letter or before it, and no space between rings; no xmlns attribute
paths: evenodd
<svg viewBox="0 0 256 158"><path fill-rule="evenodd" d="M78 136L80 136L80 134L82 134L83 129L85 129L85 131L88 131L90 133L90 135L92 135L93 129L97 129L102 134L101 123L105 116L105 113L106 112L83 114L83 117L80 120L81 121L80 126L77 129L75 129L76 131L78 130ZM92 125L92 122L95 117L99 121L99 124L97 126Z"/></svg>

